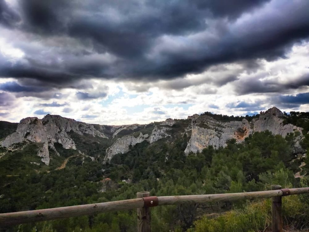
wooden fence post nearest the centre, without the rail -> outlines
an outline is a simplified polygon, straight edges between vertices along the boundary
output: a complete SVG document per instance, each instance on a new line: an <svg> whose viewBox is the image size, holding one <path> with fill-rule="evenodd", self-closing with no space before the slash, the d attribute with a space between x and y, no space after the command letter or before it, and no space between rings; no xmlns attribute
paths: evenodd
<svg viewBox="0 0 309 232"><path fill-rule="evenodd" d="M150 196L149 192L138 192L136 198ZM137 209L137 231L150 232L150 208L143 207Z"/></svg>

